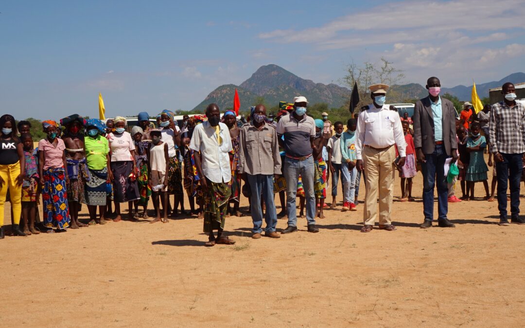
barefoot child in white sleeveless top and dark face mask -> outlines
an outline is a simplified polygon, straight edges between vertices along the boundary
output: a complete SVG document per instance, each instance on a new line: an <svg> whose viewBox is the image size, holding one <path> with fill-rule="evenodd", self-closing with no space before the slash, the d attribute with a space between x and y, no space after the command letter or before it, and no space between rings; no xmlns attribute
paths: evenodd
<svg viewBox="0 0 525 328"><path fill-rule="evenodd" d="M167 168L169 167L170 156L168 152L167 143L162 141L161 131L159 129L151 129L151 145L148 152L149 166L150 166L150 185L153 189L153 207L155 208L156 217L151 223L162 221L168 223L167 220ZM159 194L162 195L162 209L163 217L161 219L161 208L159 204Z"/></svg>

